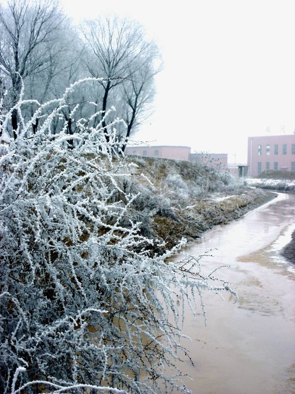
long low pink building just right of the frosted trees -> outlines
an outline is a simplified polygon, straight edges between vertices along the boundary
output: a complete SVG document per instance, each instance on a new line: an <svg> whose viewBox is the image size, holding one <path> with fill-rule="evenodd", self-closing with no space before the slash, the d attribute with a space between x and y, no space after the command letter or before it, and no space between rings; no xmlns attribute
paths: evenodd
<svg viewBox="0 0 295 394"><path fill-rule="evenodd" d="M189 146L126 146L126 155L137 155L161 159L189 160Z"/></svg>

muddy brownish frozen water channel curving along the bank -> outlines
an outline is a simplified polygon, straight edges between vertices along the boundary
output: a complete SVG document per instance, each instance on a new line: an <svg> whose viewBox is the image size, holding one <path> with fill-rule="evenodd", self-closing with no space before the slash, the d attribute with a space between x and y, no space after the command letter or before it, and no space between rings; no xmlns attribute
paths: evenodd
<svg viewBox="0 0 295 394"><path fill-rule="evenodd" d="M295 265L280 256L295 229L295 196L274 200L229 225L208 231L187 249L200 255L205 270L218 265L239 295L205 297L208 325L187 308L183 340L189 361L179 363L194 378L184 380L194 394L295 393ZM217 275L216 275L217 276Z"/></svg>

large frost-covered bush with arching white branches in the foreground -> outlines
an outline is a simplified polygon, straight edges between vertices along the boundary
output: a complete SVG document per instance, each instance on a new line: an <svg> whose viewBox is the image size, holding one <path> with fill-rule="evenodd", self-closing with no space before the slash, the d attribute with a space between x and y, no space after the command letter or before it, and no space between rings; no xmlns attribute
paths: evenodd
<svg viewBox="0 0 295 394"><path fill-rule="evenodd" d="M165 387L170 393L183 387L177 368L175 376L163 372L181 352L182 303L188 300L195 310L196 302L204 308L203 290L233 292L228 284L215 285L211 275L201 276L198 260L164 261L184 241L151 257L146 245L153 241L140 234L138 223L124 224L137 195L120 187L122 178L133 175L119 154L118 120L106 131L101 113L78 119L79 104L73 104L69 119L75 132L68 133L68 120L53 132L75 88L89 80L73 84L60 99L34 102L29 121L22 115L28 100L19 101L1 123L5 394L161 393ZM16 139L9 138L13 109ZM101 121L94 128L97 115Z"/></svg>

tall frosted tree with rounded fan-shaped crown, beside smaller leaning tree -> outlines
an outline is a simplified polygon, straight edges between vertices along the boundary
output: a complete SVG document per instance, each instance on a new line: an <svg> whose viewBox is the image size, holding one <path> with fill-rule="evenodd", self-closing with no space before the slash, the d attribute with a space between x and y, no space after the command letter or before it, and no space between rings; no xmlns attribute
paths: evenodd
<svg viewBox="0 0 295 394"><path fill-rule="evenodd" d="M136 22L117 17L98 18L82 25L82 32L91 50L87 68L91 76L103 77L102 115L107 108L109 94L133 76L146 59L150 42ZM102 121L106 140L109 140L106 121Z"/></svg>

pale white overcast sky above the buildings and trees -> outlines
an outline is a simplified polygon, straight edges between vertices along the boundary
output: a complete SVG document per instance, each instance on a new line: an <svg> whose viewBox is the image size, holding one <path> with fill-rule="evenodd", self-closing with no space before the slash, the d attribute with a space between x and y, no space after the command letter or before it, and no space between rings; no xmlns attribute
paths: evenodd
<svg viewBox="0 0 295 394"><path fill-rule="evenodd" d="M78 23L138 20L160 48L154 114L136 135L246 162L247 136L295 130L295 1L62 0Z"/></svg>

